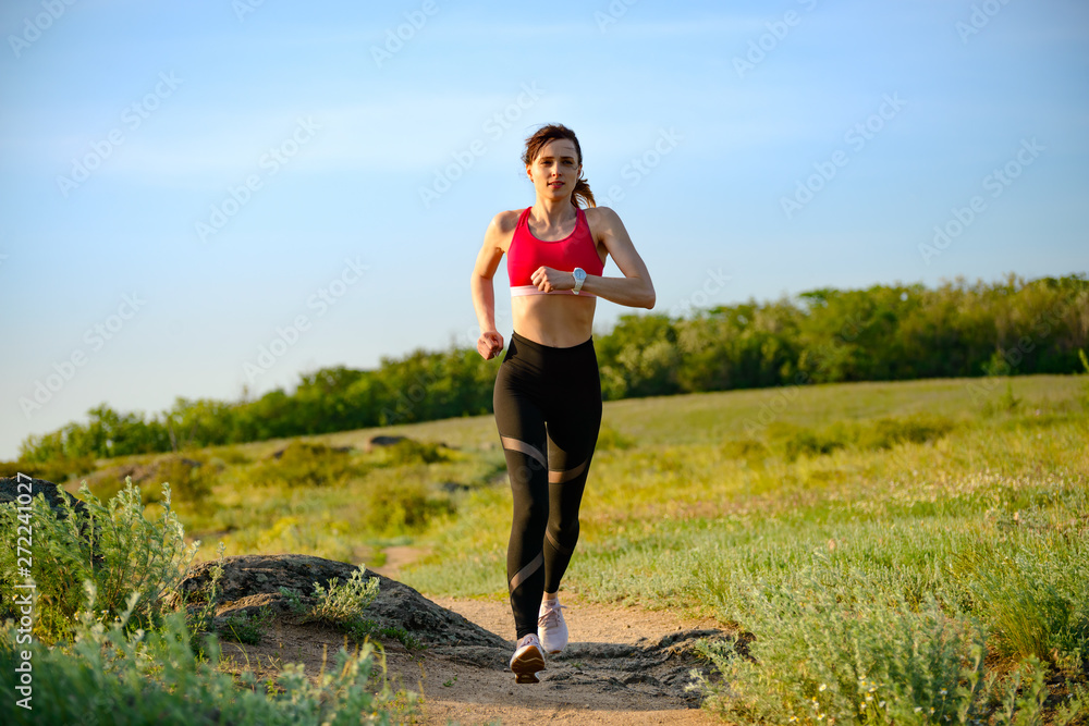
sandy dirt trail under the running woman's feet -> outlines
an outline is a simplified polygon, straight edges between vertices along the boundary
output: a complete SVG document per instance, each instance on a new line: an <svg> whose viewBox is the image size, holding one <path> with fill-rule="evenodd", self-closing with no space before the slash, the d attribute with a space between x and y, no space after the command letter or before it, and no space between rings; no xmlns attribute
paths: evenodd
<svg viewBox="0 0 1089 726"><path fill-rule="evenodd" d="M432 649L426 677L407 656L389 654L390 670L405 687L423 687L423 723L445 724L680 724L721 723L698 707L690 680L690 645L699 637L724 633L713 622L681 619L670 613L600 605L565 598L571 644L551 656L537 685L515 685L506 669L513 652L510 605L436 599L509 641L495 649ZM415 668L415 669L414 669Z"/></svg>

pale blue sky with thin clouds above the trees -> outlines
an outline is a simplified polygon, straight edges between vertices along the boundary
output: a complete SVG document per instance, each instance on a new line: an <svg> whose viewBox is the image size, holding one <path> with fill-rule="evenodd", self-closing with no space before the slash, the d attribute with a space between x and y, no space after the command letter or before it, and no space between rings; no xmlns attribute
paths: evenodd
<svg viewBox="0 0 1089 726"><path fill-rule="evenodd" d="M547 122L659 312L1089 270L1082 2L163 5L0 9L0 458L100 403L472 345Z"/></svg>

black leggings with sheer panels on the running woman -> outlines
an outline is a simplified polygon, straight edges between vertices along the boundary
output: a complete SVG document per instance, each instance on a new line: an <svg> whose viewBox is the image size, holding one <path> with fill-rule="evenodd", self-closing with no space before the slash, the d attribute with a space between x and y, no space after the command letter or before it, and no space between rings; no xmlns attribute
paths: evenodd
<svg viewBox="0 0 1089 726"><path fill-rule="evenodd" d="M601 427L594 339L554 348L514 333L494 406L514 495L506 581L521 640L537 632L541 595L560 589L578 541L578 505Z"/></svg>

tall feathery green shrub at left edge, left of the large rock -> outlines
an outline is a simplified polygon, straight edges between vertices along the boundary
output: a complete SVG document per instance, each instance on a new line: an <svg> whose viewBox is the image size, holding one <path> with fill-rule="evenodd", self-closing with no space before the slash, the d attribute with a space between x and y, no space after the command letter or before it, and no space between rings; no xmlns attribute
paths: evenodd
<svg viewBox="0 0 1089 726"><path fill-rule="evenodd" d="M126 478L125 489L107 504L90 493L86 483L79 494L85 515L66 504L58 518L41 496L34 497L29 522L33 528L30 579L36 585L35 635L46 641L69 635L76 613L88 607L84 580L95 585L98 601L95 617L108 622L123 611L130 595L137 596L134 617L147 624L167 608L162 598L173 591L188 571L197 545L186 544L182 525L170 507L170 487L162 485L164 508L157 519L144 517L139 489ZM16 541L23 522L13 507L0 507L0 532L4 541ZM0 547L0 620L15 616L12 605L16 583L16 550Z"/></svg>

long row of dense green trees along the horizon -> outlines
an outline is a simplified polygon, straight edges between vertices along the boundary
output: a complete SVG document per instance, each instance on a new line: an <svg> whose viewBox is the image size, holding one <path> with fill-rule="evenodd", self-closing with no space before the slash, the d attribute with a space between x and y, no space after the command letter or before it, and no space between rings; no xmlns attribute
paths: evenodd
<svg viewBox="0 0 1089 726"><path fill-rule="evenodd" d="M1085 274L963 279L620 318L595 335L605 399L775 385L1073 373L1089 337ZM28 436L20 462L111 457L412 423L492 411L497 360L414 350L376 370L301 376L234 403L179 397L159 414L102 404L88 422Z"/></svg>

